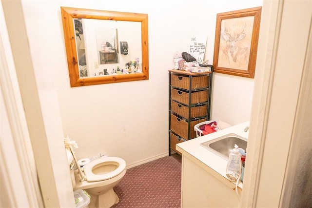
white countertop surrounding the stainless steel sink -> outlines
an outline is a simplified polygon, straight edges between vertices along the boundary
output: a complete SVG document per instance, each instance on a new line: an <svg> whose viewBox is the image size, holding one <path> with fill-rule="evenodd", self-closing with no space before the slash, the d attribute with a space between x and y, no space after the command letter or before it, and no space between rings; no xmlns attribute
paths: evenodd
<svg viewBox="0 0 312 208"><path fill-rule="evenodd" d="M230 182L230 184L232 184L230 187L233 187L235 183L228 180L226 176L226 166L228 161L210 151L209 149L201 146L200 144L227 135L229 133L234 133L238 136L248 139L249 131L244 132L246 126L249 126L249 121L179 143L176 145L176 150L180 151L182 155L192 159L197 165L202 166L205 170L215 175L218 179L224 181L227 184ZM217 173L222 177L219 177ZM239 182L238 187L243 187L243 183L241 181Z"/></svg>

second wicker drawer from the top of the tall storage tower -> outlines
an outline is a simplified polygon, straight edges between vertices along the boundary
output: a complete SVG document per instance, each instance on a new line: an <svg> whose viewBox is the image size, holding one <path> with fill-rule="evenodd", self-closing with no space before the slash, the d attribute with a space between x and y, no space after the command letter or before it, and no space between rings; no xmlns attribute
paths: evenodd
<svg viewBox="0 0 312 208"><path fill-rule="evenodd" d="M192 92L191 95L191 104L197 104L197 103L203 103L208 101L208 90L201 90ZM171 99L183 103L183 104L189 104L189 92L184 92L182 90L177 90L172 88L171 89Z"/></svg>

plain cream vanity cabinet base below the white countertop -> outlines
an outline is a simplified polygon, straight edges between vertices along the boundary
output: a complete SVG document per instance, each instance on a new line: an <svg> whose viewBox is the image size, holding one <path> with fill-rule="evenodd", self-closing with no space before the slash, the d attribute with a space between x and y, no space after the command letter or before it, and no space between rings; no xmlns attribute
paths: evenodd
<svg viewBox="0 0 312 208"><path fill-rule="evenodd" d="M181 176L181 207L239 208L234 183L184 152ZM239 196L241 191L238 188Z"/></svg>

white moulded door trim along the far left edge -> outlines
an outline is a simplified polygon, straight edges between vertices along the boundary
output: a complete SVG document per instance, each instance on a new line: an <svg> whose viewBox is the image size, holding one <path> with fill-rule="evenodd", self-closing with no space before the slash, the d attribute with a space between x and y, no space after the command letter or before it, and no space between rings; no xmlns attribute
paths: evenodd
<svg viewBox="0 0 312 208"><path fill-rule="evenodd" d="M43 207L0 3L0 207Z"/></svg>

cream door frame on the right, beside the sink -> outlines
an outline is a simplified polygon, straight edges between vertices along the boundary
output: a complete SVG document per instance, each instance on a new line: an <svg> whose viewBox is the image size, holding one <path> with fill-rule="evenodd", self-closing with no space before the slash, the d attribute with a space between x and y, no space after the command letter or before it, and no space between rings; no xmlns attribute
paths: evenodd
<svg viewBox="0 0 312 208"><path fill-rule="evenodd" d="M305 57L311 59L311 2L263 1L241 207L283 204L300 86L308 84L302 75Z"/></svg>

